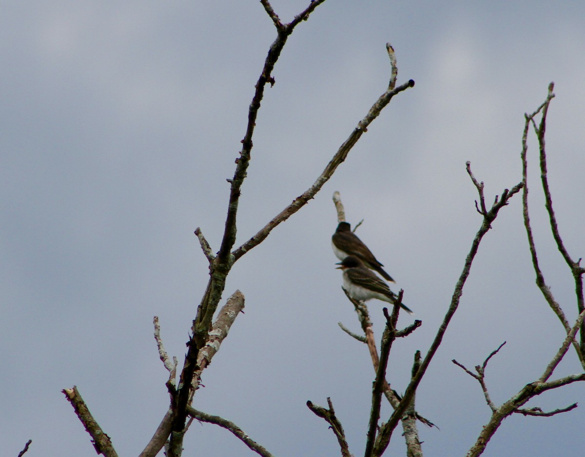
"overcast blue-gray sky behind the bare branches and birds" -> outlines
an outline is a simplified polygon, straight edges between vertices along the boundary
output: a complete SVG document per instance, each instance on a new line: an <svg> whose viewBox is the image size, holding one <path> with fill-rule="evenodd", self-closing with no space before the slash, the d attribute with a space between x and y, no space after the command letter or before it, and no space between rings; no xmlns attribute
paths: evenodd
<svg viewBox="0 0 585 457"><path fill-rule="evenodd" d="M306 1L274 1L284 21ZM488 200L521 180L524 113L555 81L549 180L560 231L584 256L585 4L329 0L295 30L257 119L242 188L242 243L311 185L387 87L398 95L315 200L235 265L225 298L246 296L195 406L222 415L275 455L338 455L305 406L330 396L350 449L363 452L373 370L340 288L330 246L339 190L347 220L422 319L393 349L388 379L403 391L426 352L481 219L465 162ZM0 15L2 319L0 442L5 455L95 455L61 389L78 386L120 455L137 455L168 406L153 339L184 343L207 283L193 231L219 248L233 161L276 32L259 2L8 2ZM545 278L576 316L529 150L532 221ZM381 303L370 304L377 337ZM400 324L411 318L404 315ZM417 394L428 455L464 455L490 411L468 367L488 365L501 404L540 376L563 338L534 286L521 197L480 247L460 308ZM572 353L553 375L579 372ZM582 385L543 394L545 410L584 403ZM510 417L487 456L580 455L585 410ZM383 417L388 417L388 408ZM195 422L187 455L254 455L229 432ZM390 445L403 455L399 434ZM390 451L388 451L390 453Z"/></svg>

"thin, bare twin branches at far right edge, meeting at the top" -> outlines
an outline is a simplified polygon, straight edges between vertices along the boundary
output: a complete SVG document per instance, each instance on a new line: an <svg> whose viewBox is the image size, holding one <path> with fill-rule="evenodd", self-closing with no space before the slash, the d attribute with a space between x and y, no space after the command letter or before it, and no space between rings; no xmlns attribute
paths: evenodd
<svg viewBox="0 0 585 457"><path fill-rule="evenodd" d="M536 246L534 242L534 237L532 236L532 227L530 224L530 218L528 213L528 159L526 158L528 152L528 130L530 125L534 127L536 138L538 139L539 145L539 155L540 155L540 169L541 169L541 181L542 181L542 189L545 195L545 207L546 211L549 214L549 221L550 221L550 229L552 231L553 238L555 239L557 248L559 252L565 259L565 262L569 266L569 269L572 273L573 280L575 283L575 294L577 298L577 310L578 312L583 311L585 309L585 305L583 302L583 273L585 273L585 269L580 266L581 259L574 261L569 252L565 248L565 243L563 243L562 238L560 237L559 227L556 221L555 211L552 206L552 197L550 195L550 188L548 184L548 174L546 168L546 149L545 149L545 131L546 131L546 115L548 114L548 108L550 102L555 97L553 94L554 84L550 83L548 88L548 95L546 97L545 102L543 102L535 112L528 115L525 114L525 123L524 123L524 132L522 133L522 153L521 153L521 160L522 160L522 182L524 182L524 193L522 195L522 207L523 207L523 214L524 214L524 226L526 228L526 235L528 236L528 245L530 248L530 253L532 256L532 265L534 267L534 271L536 273L536 286L538 286L539 290L541 291L543 297L545 297L546 302L549 304L550 308L555 312L559 321L562 323L565 331L568 333L570 330L569 322L565 317L565 312L560 308L560 305L553 297L550 288L547 286L544 275L538 263L538 256L536 255ZM536 126L535 117L540 112L542 112L541 122L538 126ZM585 369L585 328L581 328L580 330L580 343L577 341L573 342L573 346L579 357L581 362L581 366Z"/></svg>

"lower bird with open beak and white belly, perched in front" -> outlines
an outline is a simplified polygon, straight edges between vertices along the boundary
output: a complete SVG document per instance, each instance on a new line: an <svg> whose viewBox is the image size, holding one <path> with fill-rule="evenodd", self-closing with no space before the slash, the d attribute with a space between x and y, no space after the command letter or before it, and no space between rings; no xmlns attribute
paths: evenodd
<svg viewBox="0 0 585 457"><path fill-rule="evenodd" d="M368 270L356 256L347 256L336 265L339 265L337 269L343 270L343 287L354 300L366 301L377 298L392 304L396 301L397 295L390 290L388 284L376 276L376 273ZM400 307L408 314L414 314L402 303Z"/></svg>

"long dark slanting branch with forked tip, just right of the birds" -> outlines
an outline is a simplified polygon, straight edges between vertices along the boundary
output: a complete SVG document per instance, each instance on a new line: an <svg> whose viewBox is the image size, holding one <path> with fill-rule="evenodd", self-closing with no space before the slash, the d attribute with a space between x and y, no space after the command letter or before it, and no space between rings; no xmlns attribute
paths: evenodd
<svg viewBox="0 0 585 457"><path fill-rule="evenodd" d="M483 194L483 184L480 184L473 176L469 162L466 163L466 167L467 173L472 179L472 182L476 186L477 192L479 194L480 205L478 207L476 202L476 208L477 211L483 217L483 220L481 221L479 231L477 231L476 236L472 242L472 247L465 259L463 271L460 274L459 280L457 280L457 283L455 285L455 291L453 292L453 296L451 298L451 304L449 305L449 309L445 314L445 318L443 318L443 323L441 324L441 327L439 327L435 339L431 344L431 348L429 348L429 351L426 353L425 358L422 360L418 372L412 377L411 382L408 384L408 387L404 393L404 398L402 398L400 405L394 410L394 413L390 416L386 424L384 424L383 427L381 427L380 432L378 433L378 438L376 439L376 445L374 445L374 451L372 454L374 456L380 456L386 450L388 443L390 443L390 438L392 437L394 428L398 424L398 421L401 419L402 415L407 410L409 402L412 400L412 397L414 396L415 391L417 390L418 384L421 382L421 379L424 376L429 364L431 363L433 356L435 356L435 353L439 348L439 345L441 345L443 335L445 335L447 327L449 326L449 322L453 317L453 314L455 314L457 307L459 306L459 301L461 295L463 294L463 286L465 284L465 281L467 280L467 277L469 277L469 272L471 270L473 259L477 254L477 249L479 248L481 239L483 238L484 235L486 235L486 233L491 228L491 223L497 217L500 209L507 205L508 200L510 200L510 198L514 194L518 193L518 191L522 188L522 183L519 183L512 187L511 190L505 189L501 194L501 197L499 198L498 196L495 197L494 203L488 210Z"/></svg>

